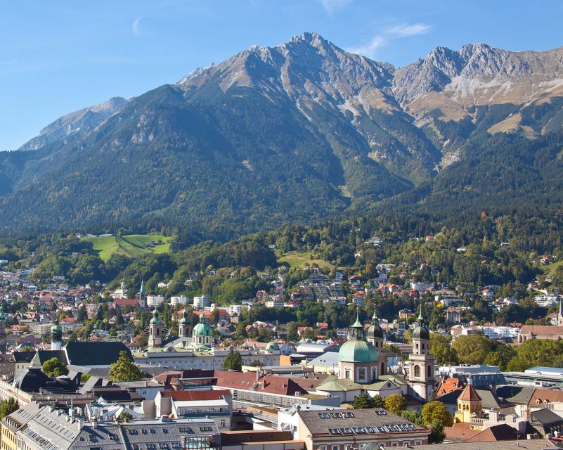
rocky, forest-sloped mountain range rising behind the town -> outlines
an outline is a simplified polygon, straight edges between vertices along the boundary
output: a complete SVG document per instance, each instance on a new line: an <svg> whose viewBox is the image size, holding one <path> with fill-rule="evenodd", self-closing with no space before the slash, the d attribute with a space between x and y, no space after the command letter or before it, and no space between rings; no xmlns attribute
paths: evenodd
<svg viewBox="0 0 563 450"><path fill-rule="evenodd" d="M436 47L394 68L304 33L0 153L0 228L228 238L373 205L559 204L562 127L563 48Z"/></svg>

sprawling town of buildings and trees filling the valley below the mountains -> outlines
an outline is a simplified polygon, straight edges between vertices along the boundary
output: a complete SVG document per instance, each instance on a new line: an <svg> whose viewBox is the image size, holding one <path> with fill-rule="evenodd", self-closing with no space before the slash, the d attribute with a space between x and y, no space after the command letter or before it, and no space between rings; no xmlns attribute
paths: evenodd
<svg viewBox="0 0 563 450"><path fill-rule="evenodd" d="M167 297L165 282L148 292L144 279L138 290L71 286L63 275L38 286L34 268L2 271L2 448L141 450L133 437L148 432L147 450L179 448L179 436L186 448L224 449L563 445L563 299L550 277L526 286L545 316L507 322L498 314L521 300L504 287L421 281L432 266L406 267L376 264L365 276L313 264L291 288L287 272L266 270L254 275L262 288L236 304ZM208 267L184 285L219 273L238 276ZM467 320L477 303L496 323ZM328 320L284 321L311 304ZM334 308L349 311L347 326L334 326Z"/></svg>

